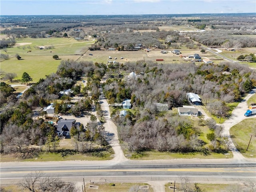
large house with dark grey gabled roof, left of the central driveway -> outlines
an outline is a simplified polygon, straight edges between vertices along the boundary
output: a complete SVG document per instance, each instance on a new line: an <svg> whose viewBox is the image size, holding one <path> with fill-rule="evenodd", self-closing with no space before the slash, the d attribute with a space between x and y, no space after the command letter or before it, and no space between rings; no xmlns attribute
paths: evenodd
<svg viewBox="0 0 256 192"><path fill-rule="evenodd" d="M70 138L70 130L74 126L79 126L80 123L76 123L75 119L60 119L57 122L57 133L58 136Z"/></svg>

